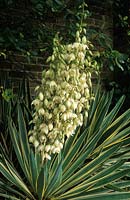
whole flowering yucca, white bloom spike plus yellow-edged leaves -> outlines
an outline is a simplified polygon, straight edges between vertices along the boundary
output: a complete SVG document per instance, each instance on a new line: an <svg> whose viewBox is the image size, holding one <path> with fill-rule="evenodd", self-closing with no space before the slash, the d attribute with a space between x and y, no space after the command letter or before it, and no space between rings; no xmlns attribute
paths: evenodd
<svg viewBox="0 0 130 200"><path fill-rule="evenodd" d="M130 109L118 116L124 97L110 110L112 92L91 95L98 64L80 33L69 45L55 38L49 69L35 89L32 120L23 101L15 118L8 116L15 162L1 145L4 199L130 198Z"/></svg>

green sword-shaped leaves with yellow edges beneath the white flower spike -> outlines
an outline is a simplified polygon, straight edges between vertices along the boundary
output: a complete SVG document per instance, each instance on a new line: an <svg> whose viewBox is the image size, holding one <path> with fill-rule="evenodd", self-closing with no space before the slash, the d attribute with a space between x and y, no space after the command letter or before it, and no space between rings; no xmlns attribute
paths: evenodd
<svg viewBox="0 0 130 200"><path fill-rule="evenodd" d="M130 109L118 116L124 97L110 111L112 93L96 93L88 119L42 162L28 143L20 104L9 130L20 170L0 150L0 196L13 200L130 199Z"/></svg>

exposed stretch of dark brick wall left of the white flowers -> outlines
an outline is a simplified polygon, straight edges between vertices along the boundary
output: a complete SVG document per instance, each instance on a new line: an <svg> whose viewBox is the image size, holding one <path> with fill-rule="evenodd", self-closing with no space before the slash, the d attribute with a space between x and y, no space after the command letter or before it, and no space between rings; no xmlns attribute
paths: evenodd
<svg viewBox="0 0 130 200"><path fill-rule="evenodd" d="M32 57L12 54L8 55L7 59L0 60L0 77L6 74L8 81L12 82L14 91L18 88L19 82L25 77L29 79L31 92L34 87L40 84L43 66L42 57Z"/></svg>

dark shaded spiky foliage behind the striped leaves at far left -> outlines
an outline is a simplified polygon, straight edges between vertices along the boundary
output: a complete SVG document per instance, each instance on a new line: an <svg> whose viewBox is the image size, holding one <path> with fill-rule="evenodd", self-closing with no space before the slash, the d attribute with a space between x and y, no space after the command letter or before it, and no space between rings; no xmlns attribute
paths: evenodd
<svg viewBox="0 0 130 200"><path fill-rule="evenodd" d="M15 120L17 115L17 102L21 103L23 111L25 113L24 117L29 121L31 118L30 115L30 106L31 106L31 97L29 89L29 81L27 78L24 78L18 86L18 93L13 92L12 83L8 81L6 74L1 74L1 91L0 91L0 137L1 142L6 150L6 154L9 157L12 157L12 143L10 141L9 127L8 127L8 118L11 117ZM17 121L17 119L15 120ZM8 141L8 142L7 142ZM8 143L8 144L7 144Z"/></svg>

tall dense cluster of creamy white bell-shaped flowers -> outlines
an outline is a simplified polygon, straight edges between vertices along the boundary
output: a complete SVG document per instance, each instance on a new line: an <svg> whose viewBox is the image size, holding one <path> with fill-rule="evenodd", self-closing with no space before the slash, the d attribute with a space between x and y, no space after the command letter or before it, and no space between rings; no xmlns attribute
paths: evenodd
<svg viewBox="0 0 130 200"><path fill-rule="evenodd" d="M50 67L43 71L41 86L36 87L37 97L29 131L29 141L42 159L51 159L59 153L65 137L75 133L87 118L91 98L91 54L85 36L77 32L76 42L61 45L55 40L53 54L48 58Z"/></svg>

